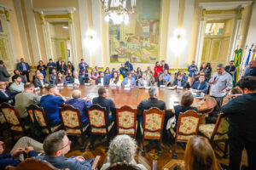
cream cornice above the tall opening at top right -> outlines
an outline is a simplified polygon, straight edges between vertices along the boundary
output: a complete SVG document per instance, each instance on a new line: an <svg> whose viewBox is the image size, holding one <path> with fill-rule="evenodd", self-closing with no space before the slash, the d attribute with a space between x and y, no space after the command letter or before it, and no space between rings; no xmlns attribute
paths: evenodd
<svg viewBox="0 0 256 170"><path fill-rule="evenodd" d="M231 10L237 8L244 8L252 4L253 1L236 1L236 2L218 2L218 3L199 3L200 8L207 10Z"/></svg>

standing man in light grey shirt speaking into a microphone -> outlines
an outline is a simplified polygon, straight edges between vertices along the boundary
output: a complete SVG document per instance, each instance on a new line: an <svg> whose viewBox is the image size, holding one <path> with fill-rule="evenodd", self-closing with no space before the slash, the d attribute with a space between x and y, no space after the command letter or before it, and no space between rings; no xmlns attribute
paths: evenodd
<svg viewBox="0 0 256 170"><path fill-rule="evenodd" d="M217 72L214 72L209 83L211 84L210 96L217 101L214 111L220 111L224 96L232 88L232 77L224 70L223 64L217 65Z"/></svg>

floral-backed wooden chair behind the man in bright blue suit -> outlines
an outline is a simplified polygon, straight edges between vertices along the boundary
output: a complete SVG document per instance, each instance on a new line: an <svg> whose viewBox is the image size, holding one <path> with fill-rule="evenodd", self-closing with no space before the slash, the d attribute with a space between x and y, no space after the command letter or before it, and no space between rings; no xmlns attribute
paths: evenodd
<svg viewBox="0 0 256 170"><path fill-rule="evenodd" d="M38 105L29 105L26 111L32 123L34 123L34 116L36 117L39 126L42 127L42 132L45 134L54 133L61 128L61 124L55 127L49 127L44 109Z"/></svg>

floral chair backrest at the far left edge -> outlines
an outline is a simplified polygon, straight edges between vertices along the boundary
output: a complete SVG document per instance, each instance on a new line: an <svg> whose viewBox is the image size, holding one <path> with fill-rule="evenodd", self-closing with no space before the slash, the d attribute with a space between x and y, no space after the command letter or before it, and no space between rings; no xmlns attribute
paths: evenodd
<svg viewBox="0 0 256 170"><path fill-rule="evenodd" d="M0 106L3 116L5 117L6 122L9 122L12 126L20 126L20 115L14 106L9 105L8 103L3 103Z"/></svg>

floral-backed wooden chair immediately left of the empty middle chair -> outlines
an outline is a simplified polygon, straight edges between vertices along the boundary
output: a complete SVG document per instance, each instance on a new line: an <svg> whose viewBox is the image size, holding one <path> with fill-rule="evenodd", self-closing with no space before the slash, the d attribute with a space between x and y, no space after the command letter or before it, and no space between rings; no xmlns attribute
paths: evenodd
<svg viewBox="0 0 256 170"><path fill-rule="evenodd" d="M90 121L90 134L91 135L106 135L107 142L110 141L110 131L113 129L114 122L111 122L109 125L108 116L106 116L106 108L101 107L100 105L91 105L87 109L89 121ZM90 150L94 147L95 138L90 137ZM108 148L108 147L107 147ZM106 149L107 149L106 148Z"/></svg>

